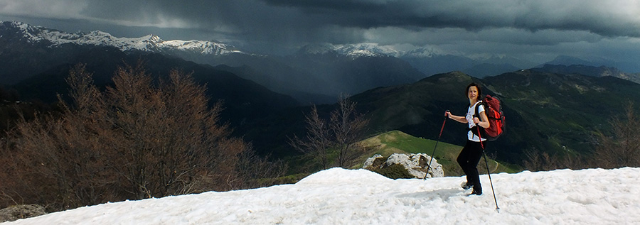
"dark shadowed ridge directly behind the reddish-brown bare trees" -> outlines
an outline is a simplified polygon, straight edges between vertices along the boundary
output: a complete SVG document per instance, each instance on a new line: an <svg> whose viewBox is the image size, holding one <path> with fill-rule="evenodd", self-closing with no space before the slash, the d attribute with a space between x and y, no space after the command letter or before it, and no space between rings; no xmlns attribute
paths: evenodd
<svg viewBox="0 0 640 225"><path fill-rule="evenodd" d="M166 78L174 69L191 73L196 82L206 84L206 94L212 104L218 100L224 102L223 121L229 121L233 126L247 125L254 119L299 104L289 96L272 92L260 84L224 70L216 70L210 65L199 65L156 53L127 54L110 47L87 50L78 54L74 60L33 75L12 88L16 89L24 100L37 99L53 103L57 100L56 94L64 95L68 92L65 77L68 76L70 67L77 63L86 64L87 72L92 72L95 84L105 87L111 84L117 67L134 66L138 62L142 62L147 72L156 79Z"/></svg>

